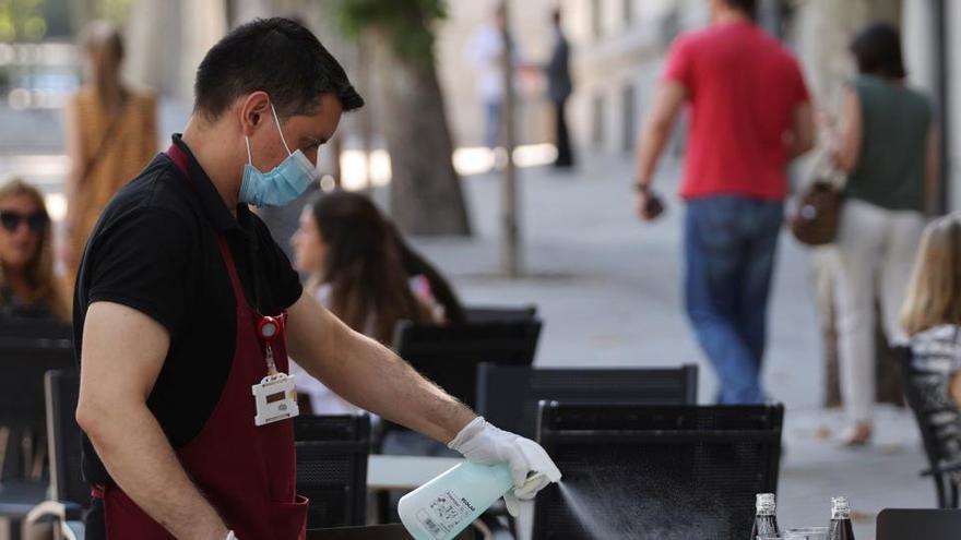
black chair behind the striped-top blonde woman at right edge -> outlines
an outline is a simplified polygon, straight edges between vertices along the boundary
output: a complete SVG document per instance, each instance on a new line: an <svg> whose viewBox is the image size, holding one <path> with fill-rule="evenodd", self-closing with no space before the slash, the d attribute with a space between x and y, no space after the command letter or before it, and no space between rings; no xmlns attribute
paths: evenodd
<svg viewBox="0 0 961 540"><path fill-rule="evenodd" d="M910 348L899 347L895 352L901 367L904 400L914 412L927 456L929 468L921 475L934 480L939 508L957 508L961 463L951 461L949 456L957 455L957 452L949 453L948 448L961 444L961 433L953 421L958 405L947 400L940 375L933 376L915 369ZM947 422L946 418L949 419Z"/></svg>

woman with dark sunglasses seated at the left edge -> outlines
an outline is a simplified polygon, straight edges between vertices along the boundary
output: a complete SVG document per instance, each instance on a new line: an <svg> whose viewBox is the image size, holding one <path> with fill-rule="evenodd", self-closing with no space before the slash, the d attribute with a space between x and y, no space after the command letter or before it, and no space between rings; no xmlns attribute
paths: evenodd
<svg viewBox="0 0 961 540"><path fill-rule="evenodd" d="M69 321L67 299L54 276L51 237L37 189L19 179L0 185L0 319Z"/></svg>

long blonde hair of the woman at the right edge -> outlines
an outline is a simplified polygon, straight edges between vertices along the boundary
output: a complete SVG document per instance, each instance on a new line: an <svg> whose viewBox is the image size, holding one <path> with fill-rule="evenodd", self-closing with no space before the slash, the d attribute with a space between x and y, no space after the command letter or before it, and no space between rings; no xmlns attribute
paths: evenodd
<svg viewBox="0 0 961 540"><path fill-rule="evenodd" d="M907 335L939 324L961 324L961 214L925 229L901 309Z"/></svg>

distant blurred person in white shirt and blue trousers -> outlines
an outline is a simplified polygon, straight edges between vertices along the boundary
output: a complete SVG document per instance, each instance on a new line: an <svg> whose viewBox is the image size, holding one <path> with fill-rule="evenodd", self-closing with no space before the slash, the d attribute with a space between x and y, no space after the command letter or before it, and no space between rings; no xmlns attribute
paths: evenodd
<svg viewBox="0 0 961 540"><path fill-rule="evenodd" d="M497 148L500 143L500 119L503 109L503 64L507 47L503 33L507 25L507 4L499 2L490 22L486 22L471 36L467 59L477 73L477 94L484 107L484 143ZM512 44L514 45L514 44ZM512 48L517 59L517 48ZM512 64L515 63L513 60Z"/></svg>

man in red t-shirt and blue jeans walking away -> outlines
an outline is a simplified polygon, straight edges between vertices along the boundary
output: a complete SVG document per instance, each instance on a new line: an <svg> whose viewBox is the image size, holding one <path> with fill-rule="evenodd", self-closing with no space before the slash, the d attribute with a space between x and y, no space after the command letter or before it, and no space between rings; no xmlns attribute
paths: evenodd
<svg viewBox="0 0 961 540"><path fill-rule="evenodd" d="M797 61L752 21L756 0L710 0L712 24L671 47L641 135L637 205L661 213L654 169L690 105L680 195L688 316L721 380L721 403L761 403L760 368L787 163L812 146L814 119Z"/></svg>

